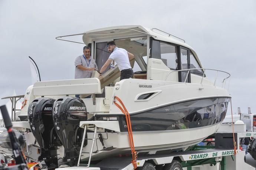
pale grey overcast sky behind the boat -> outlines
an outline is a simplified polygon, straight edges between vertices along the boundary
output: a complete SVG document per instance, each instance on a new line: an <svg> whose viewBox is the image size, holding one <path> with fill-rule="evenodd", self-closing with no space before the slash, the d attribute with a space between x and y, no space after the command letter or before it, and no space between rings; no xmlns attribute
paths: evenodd
<svg viewBox="0 0 256 170"><path fill-rule="evenodd" d="M183 38L204 68L231 74L233 112L251 107L256 113L255 0L0 0L0 98L14 89L25 93L31 84L28 56L42 81L73 79L83 45L55 37L118 25L159 28Z"/></svg>

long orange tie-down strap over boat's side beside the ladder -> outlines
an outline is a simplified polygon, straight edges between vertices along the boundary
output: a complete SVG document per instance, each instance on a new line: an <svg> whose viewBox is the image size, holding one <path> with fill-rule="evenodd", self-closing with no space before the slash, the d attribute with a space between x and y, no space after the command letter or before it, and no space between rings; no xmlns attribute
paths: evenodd
<svg viewBox="0 0 256 170"><path fill-rule="evenodd" d="M122 107L118 103L116 103L115 99L122 105ZM137 152L135 151L135 148L134 148L130 115L129 115L129 112L127 111L127 109L125 108L124 103L117 96L115 96L115 98L114 98L114 103L125 115L127 131L128 131L128 139L129 139L129 144L130 144L131 151L132 151L132 162L131 163L133 164L134 169L136 169L137 168Z"/></svg>

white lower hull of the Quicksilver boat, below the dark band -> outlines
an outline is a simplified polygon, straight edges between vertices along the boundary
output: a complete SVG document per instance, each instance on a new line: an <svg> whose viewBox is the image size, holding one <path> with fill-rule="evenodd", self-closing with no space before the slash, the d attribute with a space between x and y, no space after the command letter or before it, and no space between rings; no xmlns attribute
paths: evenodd
<svg viewBox="0 0 256 170"><path fill-rule="evenodd" d="M135 150L140 154L142 152L167 151L174 152L177 150L186 150L201 142L207 136L215 133L219 129L220 123L203 128L182 129L182 130L165 130L157 132L134 132ZM89 132L88 139L92 139L93 133ZM96 140L92 160L101 160L109 156L118 156L119 154L130 154L131 148L128 143L127 133L102 133L104 144ZM98 135L98 134L97 134ZM88 140L88 145L83 148L83 152L90 152L92 141ZM109 147L108 147L109 146ZM98 151L97 151L98 148ZM98 152L98 153L96 153ZM89 154L83 153L83 161L89 159Z"/></svg>

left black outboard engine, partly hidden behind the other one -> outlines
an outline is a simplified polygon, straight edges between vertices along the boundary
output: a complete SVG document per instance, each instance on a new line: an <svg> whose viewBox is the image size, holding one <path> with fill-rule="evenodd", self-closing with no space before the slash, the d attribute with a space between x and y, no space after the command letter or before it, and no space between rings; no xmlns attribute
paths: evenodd
<svg viewBox="0 0 256 170"><path fill-rule="evenodd" d="M57 149L61 146L55 131L52 106L55 99L37 98L33 100L28 109L28 120L31 131L41 148L39 161L44 160L48 169L58 167Z"/></svg>

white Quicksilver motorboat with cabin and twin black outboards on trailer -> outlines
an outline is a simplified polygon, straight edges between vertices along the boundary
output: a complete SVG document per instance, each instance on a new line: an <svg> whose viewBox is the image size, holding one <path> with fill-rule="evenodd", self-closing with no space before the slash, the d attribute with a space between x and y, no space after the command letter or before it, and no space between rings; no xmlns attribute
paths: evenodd
<svg viewBox="0 0 256 170"><path fill-rule="evenodd" d="M139 154L186 150L217 131L231 98L230 74L203 68L184 40L142 26L101 28L81 35L99 68L110 55L107 41L134 54L134 77L119 81L119 69L113 65L102 76L94 71L92 78L41 81L27 88L21 115L28 115L29 125L23 121L17 126L30 127L45 150L41 159L56 157L63 145L64 161L77 162L85 126L82 160L131 153L127 120L117 106L122 103ZM78 99L75 94L92 98ZM90 139L95 135L94 142Z"/></svg>

